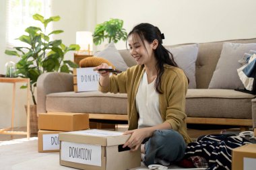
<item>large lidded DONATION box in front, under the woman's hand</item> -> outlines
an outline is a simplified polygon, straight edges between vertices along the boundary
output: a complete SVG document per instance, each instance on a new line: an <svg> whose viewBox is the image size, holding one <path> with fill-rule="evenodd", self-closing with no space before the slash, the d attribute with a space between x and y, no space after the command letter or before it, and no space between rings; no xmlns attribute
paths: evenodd
<svg viewBox="0 0 256 170"><path fill-rule="evenodd" d="M123 132L96 129L60 133L60 165L90 170L139 167L140 151L122 147L129 137Z"/></svg>

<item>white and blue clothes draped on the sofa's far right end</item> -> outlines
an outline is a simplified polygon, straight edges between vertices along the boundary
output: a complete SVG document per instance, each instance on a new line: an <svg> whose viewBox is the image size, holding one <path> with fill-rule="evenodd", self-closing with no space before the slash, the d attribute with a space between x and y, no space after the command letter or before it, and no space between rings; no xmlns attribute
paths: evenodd
<svg viewBox="0 0 256 170"><path fill-rule="evenodd" d="M245 89L253 91L253 81L256 77L256 51L251 50L245 53L241 60L238 60L243 66L237 69L237 73Z"/></svg>

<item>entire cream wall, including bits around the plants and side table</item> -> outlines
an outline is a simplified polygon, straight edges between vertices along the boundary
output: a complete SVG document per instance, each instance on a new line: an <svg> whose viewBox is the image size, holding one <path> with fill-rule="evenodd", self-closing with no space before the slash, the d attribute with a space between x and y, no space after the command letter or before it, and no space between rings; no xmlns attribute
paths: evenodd
<svg viewBox="0 0 256 170"><path fill-rule="evenodd" d="M5 18L6 2L0 1L0 74L5 62L18 60L6 56ZM160 28L166 39L164 44L212 42L238 38L256 38L255 0L53 0L52 15L61 20L53 24L55 30L64 30L55 36L65 45L75 44L75 32L94 30L96 24L110 18L124 20L129 32L141 22ZM117 43L125 49L125 42ZM101 50L104 46L98 46ZM94 46L94 49L97 50ZM73 60L73 53L65 56ZM11 118L11 90L9 84L0 83L0 128L9 126ZM26 90L16 87L15 125L26 125Z"/></svg>

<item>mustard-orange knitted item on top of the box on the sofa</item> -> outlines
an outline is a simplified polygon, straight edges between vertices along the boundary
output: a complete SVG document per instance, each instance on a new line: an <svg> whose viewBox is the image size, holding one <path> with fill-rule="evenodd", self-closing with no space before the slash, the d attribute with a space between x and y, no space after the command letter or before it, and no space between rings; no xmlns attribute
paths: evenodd
<svg viewBox="0 0 256 170"><path fill-rule="evenodd" d="M101 57L94 57L94 56L90 56L80 60L79 67L97 67L102 63L106 63L108 64L108 66L112 67L112 69L115 69L115 66L108 60Z"/></svg>

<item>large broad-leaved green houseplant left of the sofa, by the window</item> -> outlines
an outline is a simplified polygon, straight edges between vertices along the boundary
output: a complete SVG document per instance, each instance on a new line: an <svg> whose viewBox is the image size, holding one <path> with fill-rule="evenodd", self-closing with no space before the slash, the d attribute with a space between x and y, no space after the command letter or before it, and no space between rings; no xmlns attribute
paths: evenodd
<svg viewBox="0 0 256 170"><path fill-rule="evenodd" d="M34 89L38 77L46 72L71 73L72 68L78 66L71 60L64 60L64 55L68 51L79 50L79 46L76 44L65 46L61 40L51 40L51 34L60 34L63 30L46 33L48 24L59 21L59 16L44 19L42 15L34 14L33 19L41 22L43 29L34 26L26 28L25 32L28 35L22 35L18 40L25 42L27 46L13 47L15 50L5 50L5 54L20 57L16 64L16 74L18 77L30 79L30 91L36 105ZM23 85L21 88L26 87L27 85Z"/></svg>

